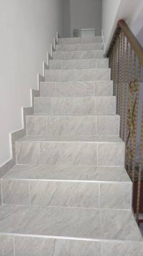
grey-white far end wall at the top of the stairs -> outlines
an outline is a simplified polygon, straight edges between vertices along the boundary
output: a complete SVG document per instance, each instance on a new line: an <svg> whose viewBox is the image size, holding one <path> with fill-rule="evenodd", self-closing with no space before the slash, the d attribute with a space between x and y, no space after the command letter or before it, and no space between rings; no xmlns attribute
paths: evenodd
<svg viewBox="0 0 143 256"><path fill-rule="evenodd" d="M70 0L71 36L73 29L96 28L101 35L102 0Z"/></svg>

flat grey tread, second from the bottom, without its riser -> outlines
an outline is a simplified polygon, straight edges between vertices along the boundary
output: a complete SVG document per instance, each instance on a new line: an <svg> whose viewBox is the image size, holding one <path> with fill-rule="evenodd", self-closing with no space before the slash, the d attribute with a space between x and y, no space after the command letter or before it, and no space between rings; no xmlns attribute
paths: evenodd
<svg viewBox="0 0 143 256"><path fill-rule="evenodd" d="M66 166L66 165L15 165L3 178L16 180L59 180L125 182L131 180L124 167Z"/></svg>

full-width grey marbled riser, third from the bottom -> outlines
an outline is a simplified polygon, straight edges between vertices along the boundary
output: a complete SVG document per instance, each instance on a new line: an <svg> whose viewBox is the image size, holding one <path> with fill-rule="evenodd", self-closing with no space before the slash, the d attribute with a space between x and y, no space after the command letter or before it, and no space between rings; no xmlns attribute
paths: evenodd
<svg viewBox="0 0 143 256"><path fill-rule="evenodd" d="M124 142L16 142L18 164L124 166Z"/></svg>

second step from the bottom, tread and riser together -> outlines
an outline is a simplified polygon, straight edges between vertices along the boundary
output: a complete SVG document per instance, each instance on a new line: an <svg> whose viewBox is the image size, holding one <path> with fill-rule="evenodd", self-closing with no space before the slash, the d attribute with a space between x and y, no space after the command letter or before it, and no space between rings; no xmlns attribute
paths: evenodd
<svg viewBox="0 0 143 256"><path fill-rule="evenodd" d="M131 209L123 167L16 165L1 182L3 204Z"/></svg>

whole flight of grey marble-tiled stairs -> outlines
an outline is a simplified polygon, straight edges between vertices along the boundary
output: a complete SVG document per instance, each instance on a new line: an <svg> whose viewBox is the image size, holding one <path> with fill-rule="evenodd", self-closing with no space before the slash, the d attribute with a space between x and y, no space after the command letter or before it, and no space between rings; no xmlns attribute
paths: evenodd
<svg viewBox="0 0 143 256"><path fill-rule="evenodd" d="M101 37L61 38L2 179L1 256L141 256Z"/></svg>

